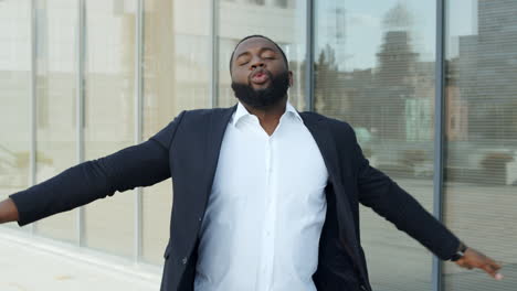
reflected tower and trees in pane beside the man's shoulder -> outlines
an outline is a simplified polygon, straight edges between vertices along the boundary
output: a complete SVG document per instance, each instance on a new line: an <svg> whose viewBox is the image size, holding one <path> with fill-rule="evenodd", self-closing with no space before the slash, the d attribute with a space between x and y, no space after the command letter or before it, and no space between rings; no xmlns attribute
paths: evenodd
<svg viewBox="0 0 517 291"><path fill-rule="evenodd" d="M411 19L401 3L388 11L377 65L369 69L341 69L339 47L327 44L316 63L321 96L316 97L316 109L367 128L380 140L432 140L435 63L419 61Z"/></svg>

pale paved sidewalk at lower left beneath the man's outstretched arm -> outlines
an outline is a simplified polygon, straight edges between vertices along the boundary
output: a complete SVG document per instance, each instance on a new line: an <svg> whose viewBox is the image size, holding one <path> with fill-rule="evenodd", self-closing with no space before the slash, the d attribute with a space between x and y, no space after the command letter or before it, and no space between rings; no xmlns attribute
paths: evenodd
<svg viewBox="0 0 517 291"><path fill-rule="evenodd" d="M46 241L0 227L1 291L159 290L159 267Z"/></svg>

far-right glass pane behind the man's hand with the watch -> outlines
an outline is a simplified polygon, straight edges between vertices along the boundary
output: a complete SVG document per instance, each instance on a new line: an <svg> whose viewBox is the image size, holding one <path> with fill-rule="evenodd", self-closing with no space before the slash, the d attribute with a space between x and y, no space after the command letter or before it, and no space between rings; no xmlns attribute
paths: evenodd
<svg viewBox="0 0 517 291"><path fill-rule="evenodd" d="M446 265L445 290L517 285L517 2L446 1L447 225L505 280Z"/></svg>

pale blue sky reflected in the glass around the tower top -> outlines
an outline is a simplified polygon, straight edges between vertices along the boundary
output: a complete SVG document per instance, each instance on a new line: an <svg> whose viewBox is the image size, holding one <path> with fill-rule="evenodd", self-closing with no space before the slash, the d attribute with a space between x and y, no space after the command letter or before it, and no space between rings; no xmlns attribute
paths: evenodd
<svg viewBox="0 0 517 291"><path fill-rule="evenodd" d="M477 1L450 2L449 9L457 17L451 20L449 34L453 36L475 33L477 18L473 15L476 15ZM318 1L315 8L316 52L320 52L326 44L339 47L336 52L339 71L374 67L376 54L379 52L383 34L389 30L401 30L400 25L387 25L384 21L387 13L399 3L409 12L407 26L411 32L412 46L419 52L419 61L434 61L435 1ZM450 42L450 51L457 52L457 43Z"/></svg>

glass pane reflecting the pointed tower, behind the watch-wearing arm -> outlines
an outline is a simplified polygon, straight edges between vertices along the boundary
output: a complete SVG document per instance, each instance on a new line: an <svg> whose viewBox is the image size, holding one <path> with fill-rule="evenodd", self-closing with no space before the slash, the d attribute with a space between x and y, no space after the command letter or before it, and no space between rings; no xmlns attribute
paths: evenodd
<svg viewBox="0 0 517 291"><path fill-rule="evenodd" d="M349 122L370 163L432 211L435 1L315 6L316 111ZM431 290L419 242L367 208L361 237L374 290Z"/></svg>

